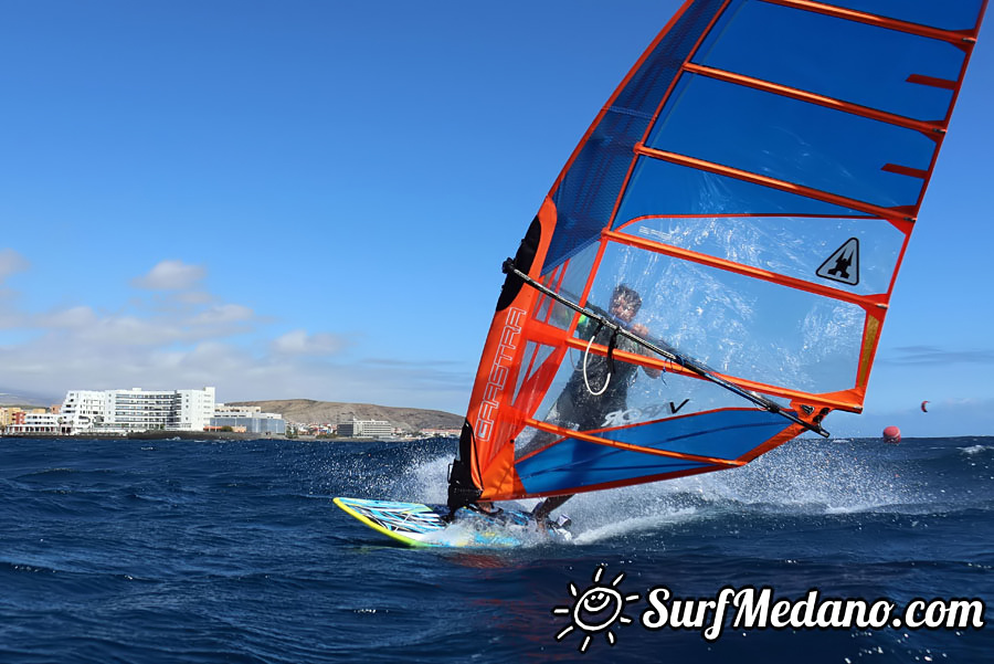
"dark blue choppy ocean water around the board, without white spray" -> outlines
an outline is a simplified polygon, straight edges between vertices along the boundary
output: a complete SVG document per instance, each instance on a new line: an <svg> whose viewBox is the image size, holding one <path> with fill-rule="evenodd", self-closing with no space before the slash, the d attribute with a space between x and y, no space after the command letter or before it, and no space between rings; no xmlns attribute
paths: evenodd
<svg viewBox="0 0 994 664"><path fill-rule="evenodd" d="M504 550L394 546L331 504L443 502L454 452L0 439L0 662L994 657L994 439L794 441L734 471L578 496L572 542ZM985 624L758 629L729 614L707 640L642 622L652 589L723 587L973 599ZM578 610L590 588L617 591L614 620Z"/></svg>

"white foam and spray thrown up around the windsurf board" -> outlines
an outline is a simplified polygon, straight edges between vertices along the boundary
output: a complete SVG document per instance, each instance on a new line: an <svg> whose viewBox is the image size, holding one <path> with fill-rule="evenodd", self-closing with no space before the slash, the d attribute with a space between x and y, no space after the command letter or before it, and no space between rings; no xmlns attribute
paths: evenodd
<svg viewBox="0 0 994 664"><path fill-rule="evenodd" d="M728 518L729 514L906 510L929 500L881 466L879 457L866 454L863 445L840 440L793 441L730 471L578 494L559 512L573 521L573 542L584 545L667 524ZM973 447L966 450L975 453ZM448 455L436 455L411 464L405 471L411 499L444 504L450 462ZM530 508L530 503L521 500L520 505Z"/></svg>

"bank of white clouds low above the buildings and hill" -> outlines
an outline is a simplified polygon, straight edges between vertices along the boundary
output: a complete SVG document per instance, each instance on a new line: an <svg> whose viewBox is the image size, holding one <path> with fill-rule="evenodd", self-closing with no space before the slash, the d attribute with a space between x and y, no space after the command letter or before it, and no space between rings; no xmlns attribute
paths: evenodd
<svg viewBox="0 0 994 664"><path fill-rule="evenodd" d="M7 274L27 265L12 252L2 255ZM266 337L264 326L272 320L198 288L204 274L200 266L163 261L133 281L147 291L113 312L77 304L35 314L8 297L0 329L6 326L8 338L19 340L0 345L0 382L56 400L71 389L214 386L222 401L306 398L453 412L465 407L472 367L349 363L340 355L352 345L346 336L296 329Z"/></svg>

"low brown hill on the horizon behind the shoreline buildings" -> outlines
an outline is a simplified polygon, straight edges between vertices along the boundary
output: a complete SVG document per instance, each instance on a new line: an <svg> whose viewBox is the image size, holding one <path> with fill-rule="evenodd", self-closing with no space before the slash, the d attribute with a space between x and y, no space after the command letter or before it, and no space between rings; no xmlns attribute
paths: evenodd
<svg viewBox="0 0 994 664"><path fill-rule="evenodd" d="M277 401L230 401L229 405L257 405L265 413L279 413L287 422L298 424L337 424L356 420L385 420L406 431L423 429L458 429L463 417L441 410L394 408L372 403L339 403L313 399Z"/></svg>

